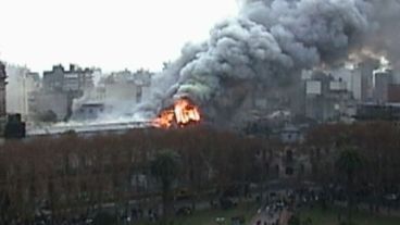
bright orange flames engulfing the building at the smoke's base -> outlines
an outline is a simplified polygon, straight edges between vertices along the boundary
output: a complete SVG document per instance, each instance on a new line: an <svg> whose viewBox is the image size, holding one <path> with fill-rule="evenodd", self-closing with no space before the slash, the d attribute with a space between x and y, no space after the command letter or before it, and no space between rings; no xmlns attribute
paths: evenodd
<svg viewBox="0 0 400 225"><path fill-rule="evenodd" d="M190 103L187 99L179 99L172 109L164 110L159 117L153 121L154 126L170 128L173 125L179 127L200 122L200 111L198 107Z"/></svg>

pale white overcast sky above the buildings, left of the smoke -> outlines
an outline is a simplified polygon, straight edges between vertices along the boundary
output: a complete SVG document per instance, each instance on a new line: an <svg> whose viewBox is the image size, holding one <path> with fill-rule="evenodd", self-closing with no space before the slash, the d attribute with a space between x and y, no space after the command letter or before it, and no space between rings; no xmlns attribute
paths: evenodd
<svg viewBox="0 0 400 225"><path fill-rule="evenodd" d="M160 70L236 12L236 0L0 0L0 60Z"/></svg>

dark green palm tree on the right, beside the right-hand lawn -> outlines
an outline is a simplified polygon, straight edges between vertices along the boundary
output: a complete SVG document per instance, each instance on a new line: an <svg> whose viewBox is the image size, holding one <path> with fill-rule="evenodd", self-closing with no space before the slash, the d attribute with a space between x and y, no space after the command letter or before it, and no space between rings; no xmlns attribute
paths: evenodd
<svg viewBox="0 0 400 225"><path fill-rule="evenodd" d="M347 186L347 210L348 210L348 223L351 224L352 207L353 207L353 188L357 179L358 172L362 167L363 159L355 148L345 147L340 152L339 158L336 161L336 166L340 177L346 177L345 183Z"/></svg>

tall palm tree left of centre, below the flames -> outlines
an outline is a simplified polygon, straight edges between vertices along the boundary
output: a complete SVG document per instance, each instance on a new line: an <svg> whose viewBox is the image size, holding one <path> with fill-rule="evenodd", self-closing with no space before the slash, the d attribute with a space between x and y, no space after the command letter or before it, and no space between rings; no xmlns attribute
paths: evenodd
<svg viewBox="0 0 400 225"><path fill-rule="evenodd" d="M179 154L172 150L163 150L157 153L151 161L151 174L161 183L162 205L164 222L171 212L171 189L174 180L179 174Z"/></svg>

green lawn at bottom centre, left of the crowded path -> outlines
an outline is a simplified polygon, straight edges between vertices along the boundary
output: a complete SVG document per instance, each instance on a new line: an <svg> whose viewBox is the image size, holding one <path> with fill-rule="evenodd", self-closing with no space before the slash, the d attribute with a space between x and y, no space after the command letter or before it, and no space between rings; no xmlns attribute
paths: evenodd
<svg viewBox="0 0 400 225"><path fill-rule="evenodd" d="M255 204L243 203L232 210L205 210L201 212L195 212L189 216L175 217L174 225L217 225L216 217L225 217L226 225L230 225L230 218L233 216L245 216L246 223L248 223L257 212ZM140 223L140 225L147 225L150 223Z"/></svg>

